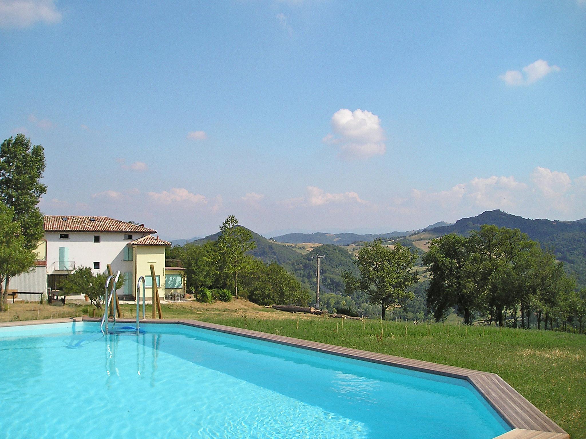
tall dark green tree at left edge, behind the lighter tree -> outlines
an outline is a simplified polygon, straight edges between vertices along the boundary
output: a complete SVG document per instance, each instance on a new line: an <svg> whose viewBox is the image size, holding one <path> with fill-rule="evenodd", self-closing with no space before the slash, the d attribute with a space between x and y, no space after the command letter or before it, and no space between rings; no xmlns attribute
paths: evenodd
<svg viewBox="0 0 586 439"><path fill-rule="evenodd" d="M40 197L47 192L45 184L40 183L44 171L43 147L32 145L22 133L0 145L0 201L12 208L12 221L21 228L22 245L29 251L36 248L45 234L43 214L37 207ZM7 288L13 275L5 276Z"/></svg>

